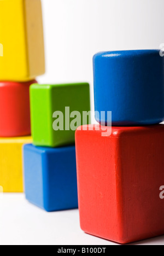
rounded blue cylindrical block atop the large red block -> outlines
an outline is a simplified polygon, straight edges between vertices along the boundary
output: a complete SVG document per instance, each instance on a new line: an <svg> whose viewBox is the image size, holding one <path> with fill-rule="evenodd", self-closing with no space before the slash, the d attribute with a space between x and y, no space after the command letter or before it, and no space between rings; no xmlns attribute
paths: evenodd
<svg viewBox="0 0 164 256"><path fill-rule="evenodd" d="M113 126L164 120L164 58L160 50L109 51L93 57L96 120ZM99 113L106 111L106 118Z"/></svg>

